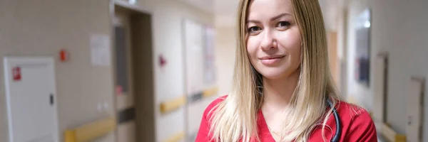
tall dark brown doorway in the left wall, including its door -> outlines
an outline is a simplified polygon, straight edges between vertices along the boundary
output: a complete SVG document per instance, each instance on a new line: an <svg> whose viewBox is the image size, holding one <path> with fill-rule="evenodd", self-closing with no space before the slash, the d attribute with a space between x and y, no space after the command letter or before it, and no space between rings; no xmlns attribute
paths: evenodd
<svg viewBox="0 0 428 142"><path fill-rule="evenodd" d="M114 5L116 141L155 141L151 15Z"/></svg>

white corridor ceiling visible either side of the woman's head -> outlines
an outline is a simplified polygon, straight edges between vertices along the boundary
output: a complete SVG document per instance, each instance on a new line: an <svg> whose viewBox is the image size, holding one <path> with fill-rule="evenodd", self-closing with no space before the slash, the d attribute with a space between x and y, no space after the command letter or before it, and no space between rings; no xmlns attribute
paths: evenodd
<svg viewBox="0 0 428 142"><path fill-rule="evenodd" d="M233 26L239 0L180 0L198 9L215 14L215 24ZM329 30L335 30L339 9L345 5L345 0L319 0L325 25Z"/></svg>

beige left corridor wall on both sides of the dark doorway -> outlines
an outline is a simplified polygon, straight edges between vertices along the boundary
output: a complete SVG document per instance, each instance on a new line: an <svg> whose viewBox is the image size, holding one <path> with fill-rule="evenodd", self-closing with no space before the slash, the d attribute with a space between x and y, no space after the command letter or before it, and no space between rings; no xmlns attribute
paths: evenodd
<svg viewBox="0 0 428 142"><path fill-rule="evenodd" d="M155 72L156 140L163 141L184 130L183 109L168 115L159 104L185 94L180 24L183 18L212 25L213 14L180 1L139 0L138 8L152 16L153 65ZM56 61L58 121L61 132L113 115L113 72L111 66L91 65L90 35L111 35L110 1L40 0L0 1L0 57L53 56L65 48L69 62ZM167 60L158 66L158 57ZM2 62L0 63L2 64ZM3 67L3 65L0 65ZM0 68L0 141L8 141L3 69ZM108 107L98 111L99 103ZM76 105L78 104L78 105ZM61 136L62 139L62 136ZM100 141L114 141L106 136Z"/></svg>

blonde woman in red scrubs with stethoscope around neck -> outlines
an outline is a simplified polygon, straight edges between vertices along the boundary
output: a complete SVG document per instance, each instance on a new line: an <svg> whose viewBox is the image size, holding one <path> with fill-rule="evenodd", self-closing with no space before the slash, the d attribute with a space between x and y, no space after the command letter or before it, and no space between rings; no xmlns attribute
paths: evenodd
<svg viewBox="0 0 428 142"><path fill-rule="evenodd" d="M327 58L317 0L241 0L233 89L205 109L196 141L377 141L367 111L340 99Z"/></svg>

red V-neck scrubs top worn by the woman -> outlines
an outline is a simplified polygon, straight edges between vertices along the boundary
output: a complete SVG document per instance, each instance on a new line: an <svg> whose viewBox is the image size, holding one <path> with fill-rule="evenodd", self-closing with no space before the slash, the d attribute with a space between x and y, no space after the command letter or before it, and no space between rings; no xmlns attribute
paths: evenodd
<svg viewBox="0 0 428 142"><path fill-rule="evenodd" d="M210 141L210 123L208 121L208 119L210 118L209 111L213 109L216 104L223 101L225 97L226 96L215 99L215 101L213 101L205 109L202 121L200 123L198 136L196 137L197 142ZM340 116L340 121L342 121L342 135L340 136L340 141L377 142L377 134L376 129L374 127L374 123L365 109L362 109L352 104L348 104L346 102L338 103L336 109L337 113ZM261 110L258 111L257 126L258 135L262 142L275 141L272 135L270 134L269 129L267 129L265 117L263 116ZM327 138L327 141L330 141L335 131L335 118L334 116L330 116L330 119L328 119L327 121L327 126L325 126L325 138ZM323 141L321 124L312 131L309 141Z"/></svg>

